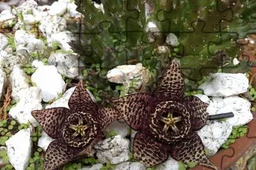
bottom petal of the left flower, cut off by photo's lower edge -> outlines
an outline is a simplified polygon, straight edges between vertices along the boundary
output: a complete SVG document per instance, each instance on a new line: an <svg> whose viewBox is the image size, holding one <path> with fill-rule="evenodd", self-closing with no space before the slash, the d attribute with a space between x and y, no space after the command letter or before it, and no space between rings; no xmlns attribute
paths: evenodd
<svg viewBox="0 0 256 170"><path fill-rule="evenodd" d="M85 152L87 147L84 148L72 148L66 145L63 140L55 140L50 143L46 150L45 162L43 169L54 170L62 167L62 165L75 160L76 157L82 155L90 155ZM89 151L89 150L87 150Z"/></svg>

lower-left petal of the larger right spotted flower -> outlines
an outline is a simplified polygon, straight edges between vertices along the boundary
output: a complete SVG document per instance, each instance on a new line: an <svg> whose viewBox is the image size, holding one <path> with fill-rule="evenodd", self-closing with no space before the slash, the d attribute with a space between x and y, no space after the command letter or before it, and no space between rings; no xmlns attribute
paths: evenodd
<svg viewBox="0 0 256 170"><path fill-rule="evenodd" d="M167 160L169 153L164 144L147 136L141 132L136 134L133 154L136 160L141 160L141 163L145 164L145 167L153 167Z"/></svg>

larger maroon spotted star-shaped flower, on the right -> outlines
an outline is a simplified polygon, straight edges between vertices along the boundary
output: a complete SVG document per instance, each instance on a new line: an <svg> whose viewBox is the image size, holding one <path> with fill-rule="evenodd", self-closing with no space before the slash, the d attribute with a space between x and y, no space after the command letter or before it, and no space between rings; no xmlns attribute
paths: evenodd
<svg viewBox="0 0 256 170"><path fill-rule="evenodd" d="M195 162L216 169L194 132L208 120L207 105L197 97L183 95L183 75L178 63L173 62L152 94L134 93L113 100L113 105L138 131L133 154L146 167L164 162L170 154L186 164Z"/></svg>

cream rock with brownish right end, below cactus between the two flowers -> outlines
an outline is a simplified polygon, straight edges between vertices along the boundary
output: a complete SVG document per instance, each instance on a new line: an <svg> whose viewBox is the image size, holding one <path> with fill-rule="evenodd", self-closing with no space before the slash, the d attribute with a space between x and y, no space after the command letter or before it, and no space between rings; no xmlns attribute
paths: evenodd
<svg viewBox="0 0 256 170"><path fill-rule="evenodd" d="M131 82L133 88L139 89L143 84L148 83L149 72L141 63L136 65L119 65L108 71L107 78L109 82L124 84L126 91L129 91Z"/></svg>

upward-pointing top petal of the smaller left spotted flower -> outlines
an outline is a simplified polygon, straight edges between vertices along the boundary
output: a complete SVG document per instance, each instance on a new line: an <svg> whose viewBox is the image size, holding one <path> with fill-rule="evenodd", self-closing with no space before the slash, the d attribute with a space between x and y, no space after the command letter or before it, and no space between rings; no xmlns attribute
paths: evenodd
<svg viewBox="0 0 256 170"><path fill-rule="evenodd" d="M69 108L73 113L76 111L87 111L96 114L97 105L92 101L89 93L85 91L83 82L79 82L75 91L69 99Z"/></svg>

